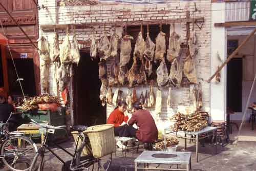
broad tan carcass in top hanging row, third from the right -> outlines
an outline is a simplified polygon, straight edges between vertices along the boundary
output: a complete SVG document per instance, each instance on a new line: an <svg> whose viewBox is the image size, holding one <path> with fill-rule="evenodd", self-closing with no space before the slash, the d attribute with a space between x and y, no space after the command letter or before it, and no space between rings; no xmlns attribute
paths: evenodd
<svg viewBox="0 0 256 171"><path fill-rule="evenodd" d="M163 55L166 53L166 40L165 33L160 31L156 38L156 51L155 51L155 62L157 60L162 60Z"/></svg>

